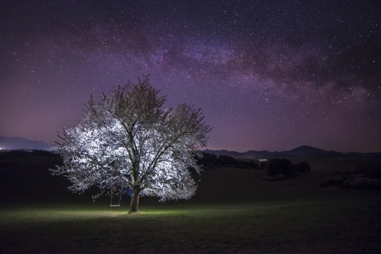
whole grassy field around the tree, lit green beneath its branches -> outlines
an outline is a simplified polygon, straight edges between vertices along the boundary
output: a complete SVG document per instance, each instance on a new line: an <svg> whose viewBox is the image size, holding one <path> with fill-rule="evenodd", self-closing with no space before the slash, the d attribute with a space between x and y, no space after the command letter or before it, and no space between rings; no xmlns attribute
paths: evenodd
<svg viewBox="0 0 381 254"><path fill-rule="evenodd" d="M206 170L192 199L142 197L139 214L127 214L128 197L110 209L107 197L93 203L70 194L64 179L42 170L50 163L33 159L1 171L1 253L381 251L381 192L320 188L320 180L339 173L319 163L285 181L264 181L255 170Z"/></svg>

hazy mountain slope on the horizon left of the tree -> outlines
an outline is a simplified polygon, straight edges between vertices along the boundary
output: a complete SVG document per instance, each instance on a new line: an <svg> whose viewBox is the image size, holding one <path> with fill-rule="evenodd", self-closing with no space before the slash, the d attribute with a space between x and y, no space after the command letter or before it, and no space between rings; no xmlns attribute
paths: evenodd
<svg viewBox="0 0 381 254"><path fill-rule="evenodd" d="M46 145L39 141L31 141L25 138L19 137L3 137L0 136L0 149L2 150L15 150L15 149L25 149L25 150L46 150Z"/></svg>

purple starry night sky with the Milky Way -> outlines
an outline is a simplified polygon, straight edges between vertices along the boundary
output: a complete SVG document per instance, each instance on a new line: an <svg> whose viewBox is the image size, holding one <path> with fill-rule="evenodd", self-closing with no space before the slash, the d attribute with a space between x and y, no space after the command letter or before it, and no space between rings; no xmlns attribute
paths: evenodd
<svg viewBox="0 0 381 254"><path fill-rule="evenodd" d="M209 149L381 151L380 1L0 1L0 135L49 143L150 75Z"/></svg>

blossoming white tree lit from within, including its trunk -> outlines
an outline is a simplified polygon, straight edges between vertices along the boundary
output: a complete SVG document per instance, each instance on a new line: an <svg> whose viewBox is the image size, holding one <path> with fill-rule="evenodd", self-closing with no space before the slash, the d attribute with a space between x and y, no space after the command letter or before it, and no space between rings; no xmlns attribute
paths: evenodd
<svg viewBox="0 0 381 254"><path fill-rule="evenodd" d="M166 99L158 92L143 76L138 84L102 93L99 101L91 96L80 124L64 126L58 135L63 142L52 146L63 158L53 174L68 177L73 192L98 186L94 198L130 187L130 212L138 211L139 195L160 201L192 197L190 169L200 173L195 155L202 156L211 128L188 105L161 109Z"/></svg>

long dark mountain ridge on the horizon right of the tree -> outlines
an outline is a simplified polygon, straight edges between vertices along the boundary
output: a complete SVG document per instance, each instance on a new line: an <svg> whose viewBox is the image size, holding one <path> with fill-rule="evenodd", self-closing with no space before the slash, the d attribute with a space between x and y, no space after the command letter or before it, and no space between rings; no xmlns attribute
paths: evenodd
<svg viewBox="0 0 381 254"><path fill-rule="evenodd" d="M360 153L360 152L336 152L336 151L326 151L323 149L319 149L313 146L303 145L292 149L290 151L247 151L247 152L236 152L236 151L227 151L227 150L209 150L206 149L204 152L213 153L217 156L219 155L227 155L232 156L234 158L250 158L255 160L260 159L269 159L269 158L277 158L277 157L369 157L369 158L381 158L381 152L371 152L371 153Z"/></svg>

